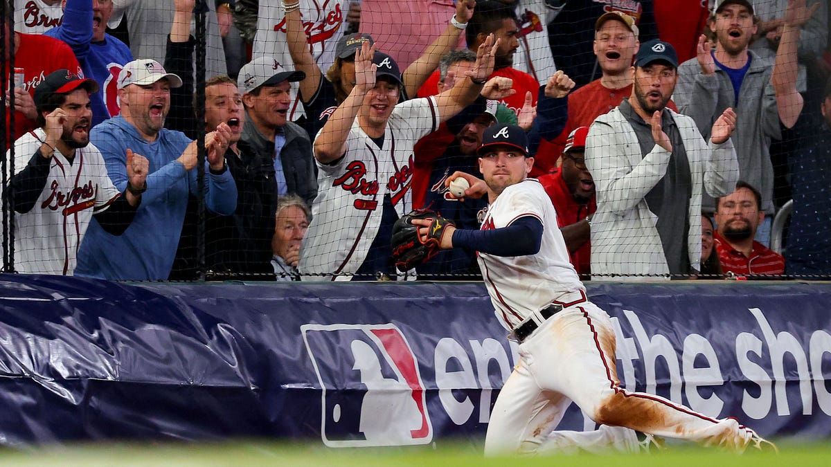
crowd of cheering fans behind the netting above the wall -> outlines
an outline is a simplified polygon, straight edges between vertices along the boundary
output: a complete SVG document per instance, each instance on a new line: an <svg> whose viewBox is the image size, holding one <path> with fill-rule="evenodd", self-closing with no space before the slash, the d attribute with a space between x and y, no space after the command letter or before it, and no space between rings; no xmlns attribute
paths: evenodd
<svg viewBox="0 0 831 467"><path fill-rule="evenodd" d="M507 123L581 278L831 277L827 0L2 9L9 271L481 278L463 248L398 270L391 229L478 229L446 182Z"/></svg>

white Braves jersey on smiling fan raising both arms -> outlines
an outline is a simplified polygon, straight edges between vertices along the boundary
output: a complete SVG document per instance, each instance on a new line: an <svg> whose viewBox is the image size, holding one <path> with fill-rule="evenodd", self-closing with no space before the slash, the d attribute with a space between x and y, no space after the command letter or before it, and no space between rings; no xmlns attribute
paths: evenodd
<svg viewBox="0 0 831 467"><path fill-rule="evenodd" d="M335 165L317 163L317 198L300 248L302 274L357 271L381 225L384 195L390 194L399 216L412 210L413 146L439 124L433 97L398 104L386 123L381 148L357 119L352 123L346 154Z"/></svg>

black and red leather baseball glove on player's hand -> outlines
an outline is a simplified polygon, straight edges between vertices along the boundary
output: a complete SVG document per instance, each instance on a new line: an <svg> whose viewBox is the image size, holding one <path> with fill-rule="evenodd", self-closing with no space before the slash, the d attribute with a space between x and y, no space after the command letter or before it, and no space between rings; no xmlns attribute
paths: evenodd
<svg viewBox="0 0 831 467"><path fill-rule="evenodd" d="M413 219L432 221L426 240L419 238L419 228L412 224ZM416 209L396 220L396 224L392 226L391 242L392 260L395 261L396 268L409 271L433 258L441 250L441 237L445 234L445 228L448 225L454 224L430 209Z"/></svg>

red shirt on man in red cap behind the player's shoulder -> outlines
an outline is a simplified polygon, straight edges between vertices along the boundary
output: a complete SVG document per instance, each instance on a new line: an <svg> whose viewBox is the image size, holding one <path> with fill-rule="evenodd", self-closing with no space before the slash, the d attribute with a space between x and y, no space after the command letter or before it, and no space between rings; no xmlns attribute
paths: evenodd
<svg viewBox="0 0 831 467"><path fill-rule="evenodd" d="M551 199L554 210L557 211L557 224L560 229L571 224L577 224L586 216L594 214L597 210L595 197L588 201L588 204L579 204L568 190L563 181L562 172L555 169L552 173L541 175L537 178L543 184L545 193ZM586 242L576 252L571 253L571 263L580 275L592 273L592 246Z"/></svg>

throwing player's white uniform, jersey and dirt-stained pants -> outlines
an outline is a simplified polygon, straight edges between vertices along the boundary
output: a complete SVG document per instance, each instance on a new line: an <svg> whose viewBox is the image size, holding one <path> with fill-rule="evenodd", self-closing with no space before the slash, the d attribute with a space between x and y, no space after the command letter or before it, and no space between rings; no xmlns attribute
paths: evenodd
<svg viewBox="0 0 831 467"><path fill-rule="evenodd" d="M526 216L543 223L538 253L513 258L479 253L485 284L504 326L515 329L531 320L538 324L520 343L519 363L494 405L485 454L544 451L549 440L557 439L558 432L552 430L572 401L597 423L743 449L755 434L735 419L716 420L618 386L612 321L588 301L543 186L525 179L504 189L490 204L482 229L504 228ZM540 312L552 305L562 309L545 319ZM579 433L572 440L577 445L614 445L621 431Z"/></svg>

